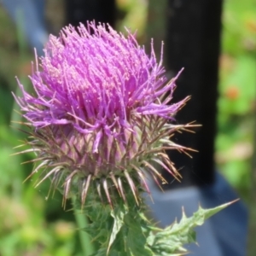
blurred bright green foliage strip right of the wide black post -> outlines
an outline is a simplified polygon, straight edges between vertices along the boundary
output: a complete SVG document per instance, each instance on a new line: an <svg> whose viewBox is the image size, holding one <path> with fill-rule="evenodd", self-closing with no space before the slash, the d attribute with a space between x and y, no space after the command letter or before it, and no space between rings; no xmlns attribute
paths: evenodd
<svg viewBox="0 0 256 256"><path fill-rule="evenodd" d="M224 1L216 162L246 201L252 172L256 108L255 17L255 1Z"/></svg>

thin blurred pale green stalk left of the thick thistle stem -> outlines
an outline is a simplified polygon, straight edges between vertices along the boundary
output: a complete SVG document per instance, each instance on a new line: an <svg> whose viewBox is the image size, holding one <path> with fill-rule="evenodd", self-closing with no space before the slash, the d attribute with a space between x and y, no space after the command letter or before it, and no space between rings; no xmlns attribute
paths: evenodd
<svg viewBox="0 0 256 256"><path fill-rule="evenodd" d="M75 197L72 197L73 205L75 206L76 199ZM79 226L79 238L80 238L80 243L81 247L83 250L83 255L84 256L89 256L90 254L94 253L94 247L91 243L90 236L84 232L84 228L88 226L88 220L87 217L84 216L83 212L76 207L74 207L74 215L76 218L76 222Z"/></svg>

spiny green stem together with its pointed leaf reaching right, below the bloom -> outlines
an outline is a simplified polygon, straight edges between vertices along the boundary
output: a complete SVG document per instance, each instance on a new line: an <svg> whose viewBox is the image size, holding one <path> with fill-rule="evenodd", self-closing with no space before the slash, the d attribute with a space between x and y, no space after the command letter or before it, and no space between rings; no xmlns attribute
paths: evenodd
<svg viewBox="0 0 256 256"><path fill-rule="evenodd" d="M207 210L200 207L192 217L187 218L183 213L179 223L174 222L166 229L160 229L150 224L143 213L145 206L142 196L138 195L141 200L137 206L128 185L124 187L127 191L126 202L119 195L113 195L112 206L104 203L107 198L101 201L91 187L84 206L90 224L84 230L98 243L93 256L183 255L187 253L183 245L195 242L194 228L230 205L228 203Z"/></svg>

